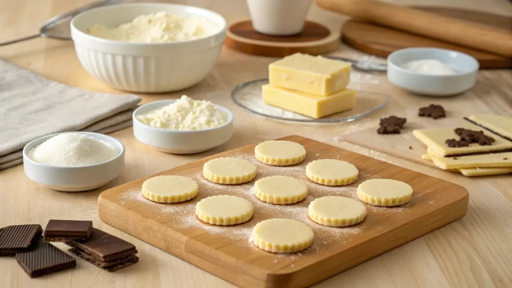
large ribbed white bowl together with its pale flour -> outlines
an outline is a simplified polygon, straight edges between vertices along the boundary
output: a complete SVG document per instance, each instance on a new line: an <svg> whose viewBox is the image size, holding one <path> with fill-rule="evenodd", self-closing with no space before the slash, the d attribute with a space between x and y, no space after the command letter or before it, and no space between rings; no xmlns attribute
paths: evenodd
<svg viewBox="0 0 512 288"><path fill-rule="evenodd" d="M71 37L83 68L106 85L161 93L193 86L210 72L226 20L193 6L119 4L75 16Z"/></svg>

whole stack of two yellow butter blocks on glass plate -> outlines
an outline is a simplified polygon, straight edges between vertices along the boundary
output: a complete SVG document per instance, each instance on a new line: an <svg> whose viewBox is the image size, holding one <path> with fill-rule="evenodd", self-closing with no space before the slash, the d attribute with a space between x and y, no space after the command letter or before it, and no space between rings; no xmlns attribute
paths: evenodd
<svg viewBox="0 0 512 288"><path fill-rule="evenodd" d="M350 63L295 53L268 67L263 101L275 107L322 118L355 106L355 91L346 89Z"/></svg>

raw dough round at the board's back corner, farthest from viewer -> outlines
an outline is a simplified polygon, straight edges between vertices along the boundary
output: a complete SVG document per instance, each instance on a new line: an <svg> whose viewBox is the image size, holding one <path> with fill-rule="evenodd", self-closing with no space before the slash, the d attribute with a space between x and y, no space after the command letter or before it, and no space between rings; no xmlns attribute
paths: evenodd
<svg viewBox="0 0 512 288"><path fill-rule="evenodd" d="M272 166L288 166L300 163L306 158L306 149L292 141L270 140L254 148L258 161Z"/></svg>

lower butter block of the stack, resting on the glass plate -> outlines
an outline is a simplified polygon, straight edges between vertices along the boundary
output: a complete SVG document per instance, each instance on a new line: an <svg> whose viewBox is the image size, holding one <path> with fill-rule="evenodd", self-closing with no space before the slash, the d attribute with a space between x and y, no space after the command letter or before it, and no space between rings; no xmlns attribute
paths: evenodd
<svg viewBox="0 0 512 288"><path fill-rule="evenodd" d="M318 96L267 84L262 86L262 91L266 104L312 118L322 118L355 106L355 91L351 89L330 96Z"/></svg>

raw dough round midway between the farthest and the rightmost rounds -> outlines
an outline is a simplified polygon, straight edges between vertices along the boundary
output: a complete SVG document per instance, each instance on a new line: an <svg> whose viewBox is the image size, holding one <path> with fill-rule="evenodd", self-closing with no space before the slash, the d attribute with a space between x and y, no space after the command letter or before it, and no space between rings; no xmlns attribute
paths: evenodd
<svg viewBox="0 0 512 288"><path fill-rule="evenodd" d="M357 180L359 170L346 161L320 159L306 166L306 176L313 182L327 186L348 185Z"/></svg>

